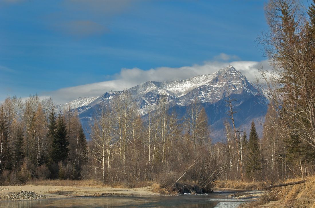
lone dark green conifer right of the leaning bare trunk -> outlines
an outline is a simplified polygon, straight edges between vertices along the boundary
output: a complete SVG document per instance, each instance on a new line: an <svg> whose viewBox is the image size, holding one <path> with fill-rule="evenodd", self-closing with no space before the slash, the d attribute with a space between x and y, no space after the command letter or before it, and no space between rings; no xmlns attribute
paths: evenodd
<svg viewBox="0 0 315 208"><path fill-rule="evenodd" d="M252 121L249 141L248 141L248 155L246 164L247 176L255 180L256 176L261 173L261 161L258 148L258 134L256 132L255 123Z"/></svg>

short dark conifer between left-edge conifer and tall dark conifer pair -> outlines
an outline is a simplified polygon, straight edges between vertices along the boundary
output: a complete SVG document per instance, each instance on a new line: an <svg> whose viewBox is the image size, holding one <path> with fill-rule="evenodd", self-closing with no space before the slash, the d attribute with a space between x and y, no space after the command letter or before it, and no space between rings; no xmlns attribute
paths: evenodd
<svg viewBox="0 0 315 208"><path fill-rule="evenodd" d="M24 159L24 132L23 126L20 125L16 128L14 133L14 163L17 168L22 164Z"/></svg>

